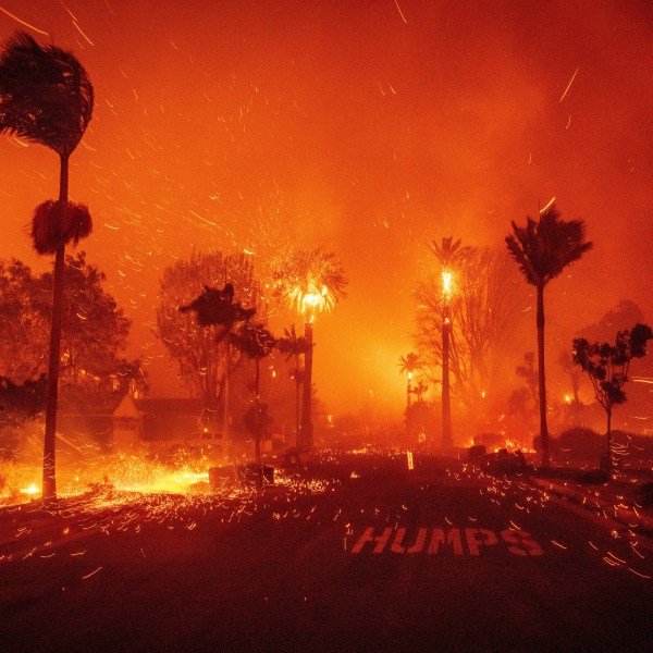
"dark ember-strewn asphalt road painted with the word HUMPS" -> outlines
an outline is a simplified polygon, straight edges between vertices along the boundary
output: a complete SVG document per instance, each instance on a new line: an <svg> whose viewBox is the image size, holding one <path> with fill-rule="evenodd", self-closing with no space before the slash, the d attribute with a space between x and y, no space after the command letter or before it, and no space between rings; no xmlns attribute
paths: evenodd
<svg viewBox="0 0 653 653"><path fill-rule="evenodd" d="M258 497L2 510L0 650L653 649L650 540L526 478L415 467L331 456Z"/></svg>

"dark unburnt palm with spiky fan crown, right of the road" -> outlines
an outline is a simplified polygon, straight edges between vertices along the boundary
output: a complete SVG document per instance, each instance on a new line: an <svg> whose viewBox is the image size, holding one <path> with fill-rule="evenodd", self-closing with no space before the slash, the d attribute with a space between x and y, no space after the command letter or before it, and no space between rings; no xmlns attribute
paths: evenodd
<svg viewBox="0 0 653 653"><path fill-rule="evenodd" d="M546 377L544 373L544 286L574 261L592 248L584 239L581 220L565 221L552 205L539 222L527 217L526 226L513 222L513 233L506 236L508 251L519 266L527 283L538 292L538 374L540 391L540 441L542 466L549 467L549 429L546 426Z"/></svg>

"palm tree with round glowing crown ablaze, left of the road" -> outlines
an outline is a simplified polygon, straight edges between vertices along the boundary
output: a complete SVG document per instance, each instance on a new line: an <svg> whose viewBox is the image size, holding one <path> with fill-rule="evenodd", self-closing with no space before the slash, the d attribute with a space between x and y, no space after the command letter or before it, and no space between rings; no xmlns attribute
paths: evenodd
<svg viewBox="0 0 653 653"><path fill-rule="evenodd" d="M304 396L301 410L301 444L312 447L311 393L312 393L312 323L318 312L331 310L345 297L345 278L342 266L333 252L320 248L292 252L275 274L275 294L286 306L305 318L304 337Z"/></svg>

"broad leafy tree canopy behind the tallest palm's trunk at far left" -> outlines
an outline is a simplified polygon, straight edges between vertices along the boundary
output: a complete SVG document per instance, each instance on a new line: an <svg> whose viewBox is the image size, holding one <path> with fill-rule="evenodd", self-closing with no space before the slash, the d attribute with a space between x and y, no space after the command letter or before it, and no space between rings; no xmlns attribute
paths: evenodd
<svg viewBox="0 0 653 653"><path fill-rule="evenodd" d="M84 251L65 262L60 403L64 409L111 410L130 379L145 381L138 361L121 356L131 322ZM51 296L51 272L35 276L21 261L0 260L0 375L13 383L47 373Z"/></svg>

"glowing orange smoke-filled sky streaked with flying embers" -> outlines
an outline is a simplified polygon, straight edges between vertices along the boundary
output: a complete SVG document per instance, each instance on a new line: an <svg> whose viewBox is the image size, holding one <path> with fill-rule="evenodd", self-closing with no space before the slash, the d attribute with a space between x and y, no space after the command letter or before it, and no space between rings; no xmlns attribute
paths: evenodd
<svg viewBox="0 0 653 653"><path fill-rule="evenodd" d="M549 286L552 338L621 298L651 316L648 0L0 0L0 39L16 29L94 83L71 159L95 221L79 247L134 321L155 394L177 392L152 335L158 281L193 248L336 252L348 295L315 332L334 410L405 401L430 241L504 247L554 197L594 248ZM50 264L26 225L58 174L53 152L0 138L0 257Z"/></svg>

